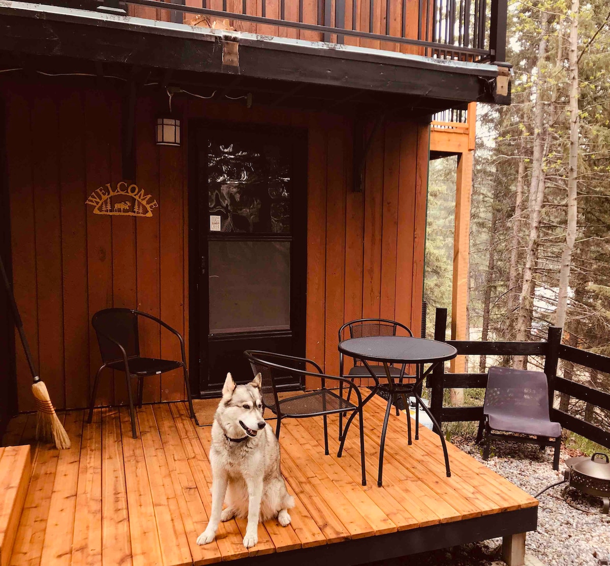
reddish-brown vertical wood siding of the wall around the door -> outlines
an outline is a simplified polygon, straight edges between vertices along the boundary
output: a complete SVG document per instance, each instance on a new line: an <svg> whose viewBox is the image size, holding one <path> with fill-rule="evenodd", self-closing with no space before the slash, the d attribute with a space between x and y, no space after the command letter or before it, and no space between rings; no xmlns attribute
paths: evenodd
<svg viewBox="0 0 610 566"><path fill-rule="evenodd" d="M160 316L185 335L188 348L188 118L307 129L308 357L337 372L337 330L361 316L395 317L418 333L427 124L379 128L364 191L357 193L351 118L175 97L184 143L159 147L154 121L166 101L145 90L136 106L135 182L159 208L152 218L100 216L85 200L97 187L121 180L122 89L88 78L0 79L12 140L7 178L16 298L57 407L87 404L101 363L90 320L102 308L135 307ZM142 326L142 343L147 355L179 357L173 336L152 325ZM31 410L19 344L16 366L19 408ZM146 381L145 402L184 396L179 372ZM98 403L126 400L124 376L108 372Z"/></svg>

